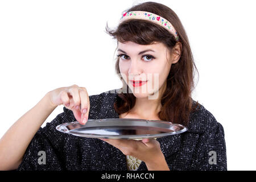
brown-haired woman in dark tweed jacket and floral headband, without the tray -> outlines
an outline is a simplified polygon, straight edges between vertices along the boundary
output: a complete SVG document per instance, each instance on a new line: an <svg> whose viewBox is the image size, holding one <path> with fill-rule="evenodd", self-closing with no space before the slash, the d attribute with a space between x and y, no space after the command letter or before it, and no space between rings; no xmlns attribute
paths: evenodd
<svg viewBox="0 0 256 182"><path fill-rule="evenodd" d="M174 11L142 3L122 14L116 30L106 30L118 40L116 71L123 87L92 96L77 85L48 92L1 138L1 169L226 170L224 129L191 98L196 67ZM64 112L40 127L58 105L65 105ZM158 119L188 131L124 140L81 138L55 129L100 118Z"/></svg>

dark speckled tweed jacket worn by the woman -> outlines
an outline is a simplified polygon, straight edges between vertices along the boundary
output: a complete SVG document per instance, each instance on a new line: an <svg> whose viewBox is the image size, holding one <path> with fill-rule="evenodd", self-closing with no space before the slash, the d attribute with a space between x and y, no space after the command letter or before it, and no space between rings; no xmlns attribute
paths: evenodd
<svg viewBox="0 0 256 182"><path fill-rule="evenodd" d="M119 118L113 107L116 97L117 92L89 96L89 119ZM200 106L190 115L188 131L157 139L170 170L227 169L224 129ZM17 170L127 170L126 156L118 148L97 138L57 131L57 125L76 121L72 110L63 110L52 122L40 127ZM38 163L39 151L46 152L46 164ZM212 163L210 151L216 152L216 163ZM138 171L145 170L146 164L142 162Z"/></svg>

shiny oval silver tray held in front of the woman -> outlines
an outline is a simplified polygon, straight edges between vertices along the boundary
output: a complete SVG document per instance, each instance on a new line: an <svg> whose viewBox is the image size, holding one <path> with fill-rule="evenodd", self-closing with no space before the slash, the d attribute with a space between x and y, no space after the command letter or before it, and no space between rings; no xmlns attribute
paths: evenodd
<svg viewBox="0 0 256 182"><path fill-rule="evenodd" d="M79 137L136 140L156 139L187 131L187 127L176 123L131 118L88 119L85 125L75 121L58 125L56 129Z"/></svg>

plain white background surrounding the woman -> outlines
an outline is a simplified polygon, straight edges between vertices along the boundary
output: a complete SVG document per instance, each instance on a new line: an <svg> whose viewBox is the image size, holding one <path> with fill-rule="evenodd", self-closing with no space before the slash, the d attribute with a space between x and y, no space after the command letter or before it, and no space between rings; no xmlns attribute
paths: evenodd
<svg viewBox="0 0 256 182"><path fill-rule="evenodd" d="M137 2L145 1L0 1L0 137L50 90L120 88L105 26L117 26ZM199 70L193 99L224 126L228 170L255 170L254 1L155 2L174 10L187 31Z"/></svg>

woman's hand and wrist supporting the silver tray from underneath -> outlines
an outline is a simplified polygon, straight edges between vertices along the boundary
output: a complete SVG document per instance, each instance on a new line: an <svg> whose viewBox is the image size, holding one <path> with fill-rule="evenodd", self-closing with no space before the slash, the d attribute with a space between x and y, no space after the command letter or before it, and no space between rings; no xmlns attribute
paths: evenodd
<svg viewBox="0 0 256 182"><path fill-rule="evenodd" d="M131 155L146 163L148 170L170 170L155 139L101 139L118 148L125 155Z"/></svg>

